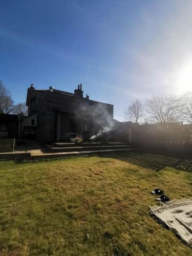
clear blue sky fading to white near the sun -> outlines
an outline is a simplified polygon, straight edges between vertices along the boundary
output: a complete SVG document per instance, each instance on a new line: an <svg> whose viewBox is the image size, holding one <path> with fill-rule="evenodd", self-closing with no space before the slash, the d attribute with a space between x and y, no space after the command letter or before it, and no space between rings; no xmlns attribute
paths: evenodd
<svg viewBox="0 0 192 256"><path fill-rule="evenodd" d="M191 0L1 0L0 80L14 101L27 88L114 104L192 88Z"/></svg>

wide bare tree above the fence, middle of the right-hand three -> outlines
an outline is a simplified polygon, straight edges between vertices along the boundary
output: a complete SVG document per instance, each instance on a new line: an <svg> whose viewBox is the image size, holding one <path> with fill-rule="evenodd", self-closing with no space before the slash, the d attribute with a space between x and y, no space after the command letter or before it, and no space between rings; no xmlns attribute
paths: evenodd
<svg viewBox="0 0 192 256"><path fill-rule="evenodd" d="M180 105L176 96L155 95L146 100L145 109L155 122L176 122L179 119Z"/></svg>

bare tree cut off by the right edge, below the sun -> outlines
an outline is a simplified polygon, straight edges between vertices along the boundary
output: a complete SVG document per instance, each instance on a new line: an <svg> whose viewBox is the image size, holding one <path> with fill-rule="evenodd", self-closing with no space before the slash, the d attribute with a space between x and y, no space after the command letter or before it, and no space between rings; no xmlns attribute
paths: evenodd
<svg viewBox="0 0 192 256"><path fill-rule="evenodd" d="M183 120L187 123L192 123L192 92L189 92L181 97L182 105L180 114Z"/></svg>

